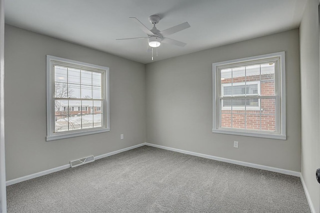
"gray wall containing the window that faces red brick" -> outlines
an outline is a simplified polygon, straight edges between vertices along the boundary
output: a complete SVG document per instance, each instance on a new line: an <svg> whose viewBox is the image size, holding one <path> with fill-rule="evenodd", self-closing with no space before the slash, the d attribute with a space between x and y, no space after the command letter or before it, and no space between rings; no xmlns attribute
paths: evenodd
<svg viewBox="0 0 320 213"><path fill-rule="evenodd" d="M212 133L212 63L285 51L287 140ZM298 29L146 65L148 143L300 172ZM239 148L233 148L239 141Z"/></svg>

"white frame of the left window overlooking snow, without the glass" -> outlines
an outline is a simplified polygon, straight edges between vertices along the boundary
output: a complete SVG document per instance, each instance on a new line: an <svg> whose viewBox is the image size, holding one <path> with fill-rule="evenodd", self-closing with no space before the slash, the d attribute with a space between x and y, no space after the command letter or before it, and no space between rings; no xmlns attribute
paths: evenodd
<svg viewBox="0 0 320 213"><path fill-rule="evenodd" d="M66 64L69 67L80 68L85 70L96 70L103 73L104 78L102 85L102 127L94 127L91 129L71 130L63 132L54 132L54 70L53 64ZM64 138L78 137L83 135L91 135L96 133L110 131L109 121L109 68L80 61L46 55L46 141L53 141Z"/></svg>

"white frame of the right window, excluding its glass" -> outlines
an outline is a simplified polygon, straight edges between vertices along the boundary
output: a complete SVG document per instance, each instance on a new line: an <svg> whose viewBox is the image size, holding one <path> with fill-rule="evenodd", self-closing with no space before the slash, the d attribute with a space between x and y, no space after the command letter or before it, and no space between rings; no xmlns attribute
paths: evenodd
<svg viewBox="0 0 320 213"><path fill-rule="evenodd" d="M220 69L253 65L259 63L267 63L268 61L276 61L275 63L275 132L247 130L237 128L220 127L221 121L219 112L222 105L221 99L221 76ZM286 127L285 127L285 53L275 52L270 54L221 61L212 63L212 133L240 135L259 138L270 138L286 140ZM259 98L264 96L252 96L252 98Z"/></svg>

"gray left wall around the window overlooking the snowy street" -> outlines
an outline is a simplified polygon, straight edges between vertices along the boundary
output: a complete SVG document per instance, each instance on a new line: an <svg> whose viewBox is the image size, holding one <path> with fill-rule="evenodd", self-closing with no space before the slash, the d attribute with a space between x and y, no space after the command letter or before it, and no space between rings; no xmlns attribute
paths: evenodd
<svg viewBox="0 0 320 213"><path fill-rule="evenodd" d="M110 132L45 141L47 54L110 68ZM6 180L145 142L144 64L10 25L4 55Z"/></svg>

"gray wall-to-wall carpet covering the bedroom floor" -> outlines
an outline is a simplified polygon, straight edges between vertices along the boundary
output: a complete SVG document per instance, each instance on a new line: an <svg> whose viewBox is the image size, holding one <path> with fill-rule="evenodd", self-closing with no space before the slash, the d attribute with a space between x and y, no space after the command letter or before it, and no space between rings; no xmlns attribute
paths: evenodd
<svg viewBox="0 0 320 213"><path fill-rule="evenodd" d="M8 213L310 213L300 179L143 146L7 187Z"/></svg>

